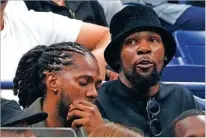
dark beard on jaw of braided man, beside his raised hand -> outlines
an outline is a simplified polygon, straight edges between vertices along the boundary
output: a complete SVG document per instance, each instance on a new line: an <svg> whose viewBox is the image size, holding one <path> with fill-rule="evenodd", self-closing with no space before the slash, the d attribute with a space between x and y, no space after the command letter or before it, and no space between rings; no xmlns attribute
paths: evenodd
<svg viewBox="0 0 206 138"><path fill-rule="evenodd" d="M71 105L71 100L69 96L62 90L60 94L60 101L57 105L60 120L64 127L71 127L73 120L67 120L69 106Z"/></svg>

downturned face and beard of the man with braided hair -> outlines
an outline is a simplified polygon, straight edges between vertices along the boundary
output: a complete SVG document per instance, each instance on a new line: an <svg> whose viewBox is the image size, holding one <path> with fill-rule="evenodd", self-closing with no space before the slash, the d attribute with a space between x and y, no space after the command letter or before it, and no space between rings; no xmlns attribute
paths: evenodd
<svg viewBox="0 0 206 138"><path fill-rule="evenodd" d="M97 61L90 55L73 56L73 65L58 71L59 115L64 120L64 126L70 126L66 120L69 106L77 100L93 102L97 97L97 89L101 79Z"/></svg>

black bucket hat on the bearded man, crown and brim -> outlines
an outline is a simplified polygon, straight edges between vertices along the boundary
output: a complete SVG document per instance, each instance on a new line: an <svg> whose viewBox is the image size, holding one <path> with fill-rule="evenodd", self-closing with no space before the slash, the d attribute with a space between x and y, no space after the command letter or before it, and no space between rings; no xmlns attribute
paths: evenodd
<svg viewBox="0 0 206 138"><path fill-rule="evenodd" d="M161 26L155 11L141 4L127 6L113 16L110 23L111 42L104 52L106 62L115 72L120 71L120 49L123 40L140 31L153 31L161 36L167 57L164 66L175 55L175 40L172 34Z"/></svg>

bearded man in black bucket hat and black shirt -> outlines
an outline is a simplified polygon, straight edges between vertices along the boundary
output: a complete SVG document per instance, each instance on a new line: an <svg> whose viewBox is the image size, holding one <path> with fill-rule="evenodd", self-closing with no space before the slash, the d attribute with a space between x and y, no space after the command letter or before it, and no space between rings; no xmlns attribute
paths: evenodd
<svg viewBox="0 0 206 138"><path fill-rule="evenodd" d="M143 5L115 14L110 33L112 41L104 56L119 79L99 90L96 105L102 116L139 128L146 136L172 136L172 120L185 110L199 108L189 90L160 83L161 72L176 51L172 35Z"/></svg>

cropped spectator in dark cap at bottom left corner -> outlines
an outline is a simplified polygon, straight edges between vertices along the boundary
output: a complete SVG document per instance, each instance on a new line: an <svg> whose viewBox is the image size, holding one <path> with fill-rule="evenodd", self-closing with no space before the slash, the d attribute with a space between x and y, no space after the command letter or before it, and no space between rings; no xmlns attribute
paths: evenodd
<svg viewBox="0 0 206 138"><path fill-rule="evenodd" d="M28 127L47 118L45 112L31 112L30 109L22 110L13 100L1 98L1 128L4 127ZM1 137L32 137L35 134L30 130L0 130Z"/></svg>

